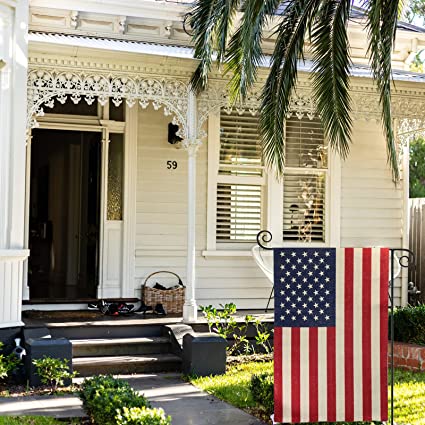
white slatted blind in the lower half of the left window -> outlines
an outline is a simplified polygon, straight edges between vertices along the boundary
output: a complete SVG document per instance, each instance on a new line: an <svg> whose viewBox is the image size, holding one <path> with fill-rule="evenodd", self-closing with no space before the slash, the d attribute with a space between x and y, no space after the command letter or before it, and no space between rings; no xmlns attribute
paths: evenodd
<svg viewBox="0 0 425 425"><path fill-rule="evenodd" d="M217 242L251 242L261 230L261 185L217 185Z"/></svg>

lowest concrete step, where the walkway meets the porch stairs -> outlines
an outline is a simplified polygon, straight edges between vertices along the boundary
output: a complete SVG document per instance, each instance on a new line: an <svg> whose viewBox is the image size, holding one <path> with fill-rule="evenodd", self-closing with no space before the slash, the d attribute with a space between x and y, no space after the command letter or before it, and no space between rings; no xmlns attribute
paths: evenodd
<svg viewBox="0 0 425 425"><path fill-rule="evenodd" d="M72 364L79 376L181 370L181 358L173 354L77 357L73 359Z"/></svg>

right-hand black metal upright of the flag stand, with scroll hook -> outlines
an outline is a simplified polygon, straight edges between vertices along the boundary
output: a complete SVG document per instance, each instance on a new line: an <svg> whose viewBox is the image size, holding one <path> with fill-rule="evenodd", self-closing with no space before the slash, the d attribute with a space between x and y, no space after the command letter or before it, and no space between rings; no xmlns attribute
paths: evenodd
<svg viewBox="0 0 425 425"><path fill-rule="evenodd" d="M400 257L396 256L396 252L402 253ZM415 265L415 254L409 249L405 248L393 248L390 249L391 254L391 275L390 275L390 376L391 376L391 425L394 425L394 267L398 262L399 266L404 269L414 267Z"/></svg>

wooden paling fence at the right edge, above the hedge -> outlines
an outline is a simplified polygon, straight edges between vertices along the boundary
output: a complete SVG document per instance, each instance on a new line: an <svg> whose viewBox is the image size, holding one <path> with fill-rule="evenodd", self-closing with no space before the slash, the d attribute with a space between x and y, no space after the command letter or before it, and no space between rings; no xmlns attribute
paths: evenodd
<svg viewBox="0 0 425 425"><path fill-rule="evenodd" d="M415 253L416 267L409 269L409 282L421 291L419 300L425 302L425 198L409 199L409 249Z"/></svg>

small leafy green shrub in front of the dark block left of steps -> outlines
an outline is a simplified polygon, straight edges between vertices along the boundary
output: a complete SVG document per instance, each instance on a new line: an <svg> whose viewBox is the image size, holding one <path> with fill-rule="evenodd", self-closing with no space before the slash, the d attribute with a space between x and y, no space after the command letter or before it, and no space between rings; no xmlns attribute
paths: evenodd
<svg viewBox="0 0 425 425"><path fill-rule="evenodd" d="M43 356L38 360L33 360L36 374L43 384L49 385L51 391L55 391L58 385L63 385L66 379L72 379L77 372L71 372L67 359L56 359Z"/></svg>

